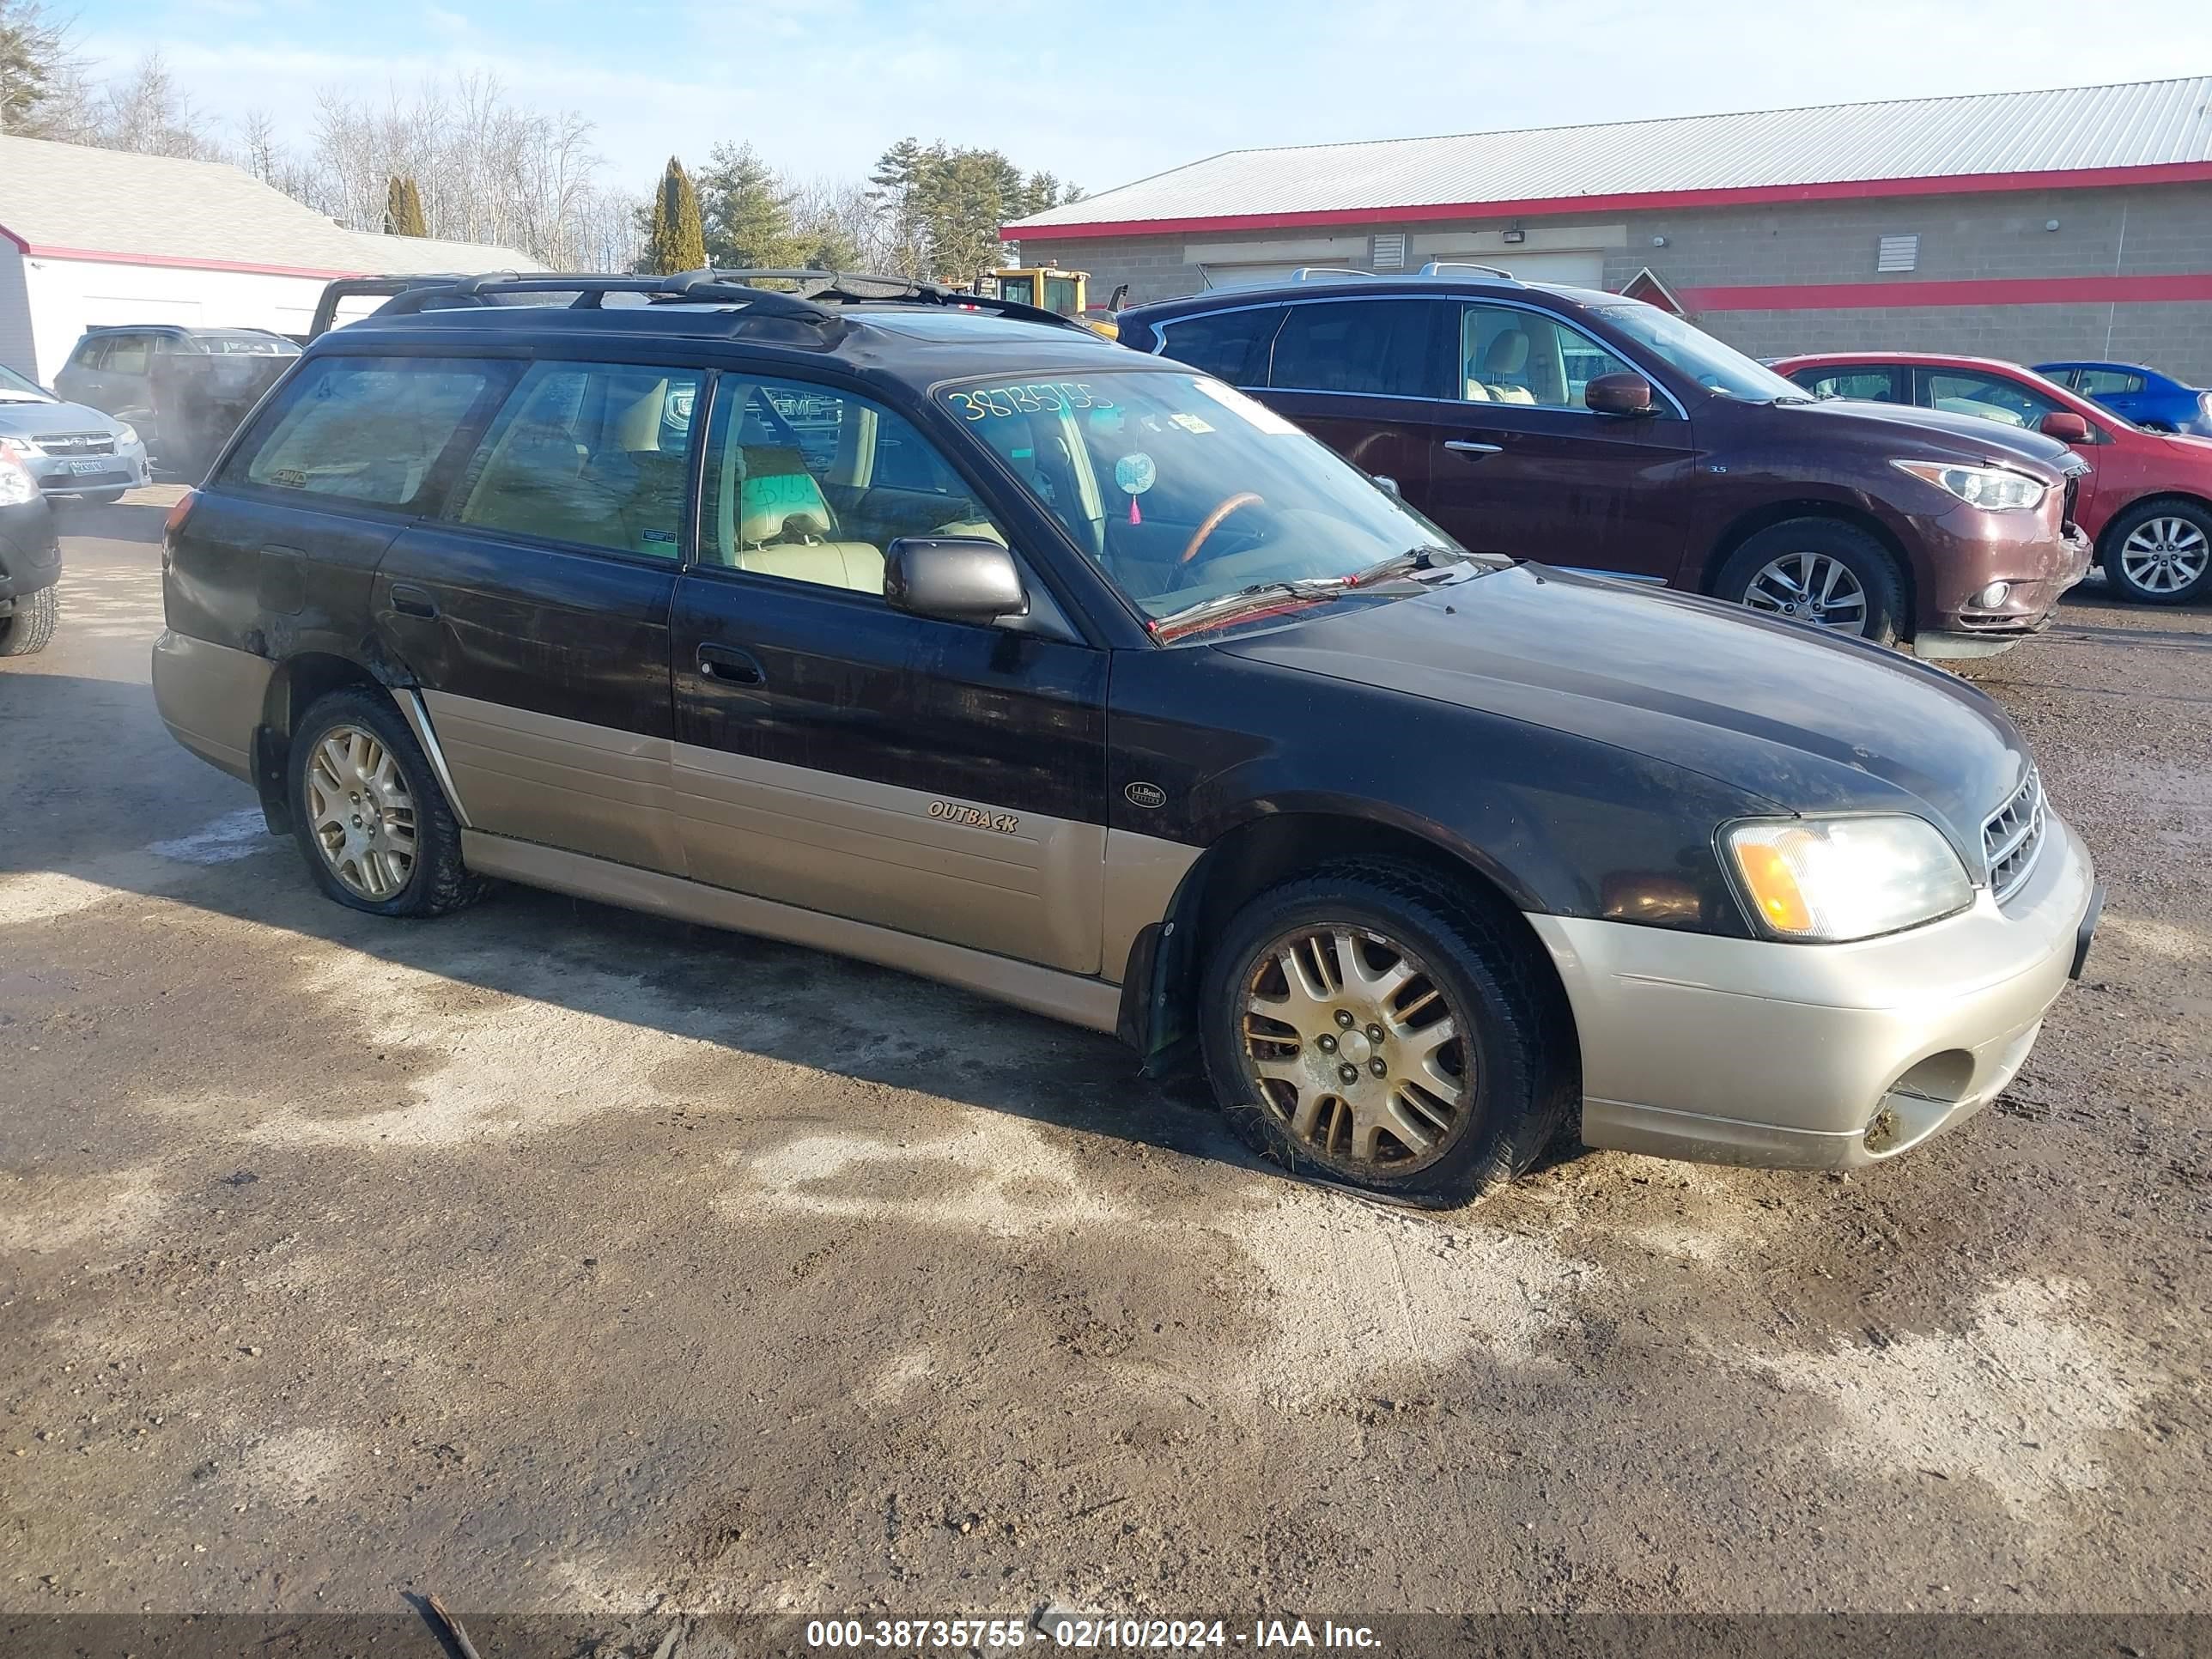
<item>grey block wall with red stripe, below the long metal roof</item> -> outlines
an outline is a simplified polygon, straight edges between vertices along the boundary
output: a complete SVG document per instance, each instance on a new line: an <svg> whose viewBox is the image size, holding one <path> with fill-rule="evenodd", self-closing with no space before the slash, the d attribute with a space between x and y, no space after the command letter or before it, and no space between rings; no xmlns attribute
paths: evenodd
<svg viewBox="0 0 2212 1659"><path fill-rule="evenodd" d="M2212 274L2212 184L2135 186L2112 190L2028 190L1960 197L1885 197L1871 201L1807 201L1770 208L1697 208L1679 212L1604 215L1617 237L1590 237L1604 250L1606 288L1624 288L1646 265L1690 303L1699 327L1754 356L1790 352L1896 347L1971 352L2024 363L2112 356L2152 363L2212 385L2212 301L2099 301L2099 303L1971 303L1913 305L1911 283L2011 281L2037 276L2199 276ZM1590 215L1579 217L1584 223ZM2057 230L2046 230L2048 221ZM1537 230L1575 223L1573 217L1520 221L1531 241ZM1376 219L1365 232L1402 230L1495 232L1498 221L1402 223ZM1332 228L1345 234L1345 226ZM1595 226L1593 226L1595 232ZM1281 243L1294 230L1219 232L1203 241ZM1314 232L1316 237L1327 232ZM1876 272L1882 237L1918 234L1911 272ZM1657 237L1666 246L1652 246ZM1130 303L1194 294L1206 285L1186 259L1199 241L1186 234L1084 237L1035 243L1031 257L1091 272L1095 303L1117 283ZM1606 246L1610 241L1610 246ZM1480 254L1478 254L1480 257ZM1504 250L1502 257L1511 257ZM1329 254L1316 263L1356 263ZM1829 283L1898 283L1898 305L1849 310L1745 307L1697 303L1710 288L1812 288Z"/></svg>

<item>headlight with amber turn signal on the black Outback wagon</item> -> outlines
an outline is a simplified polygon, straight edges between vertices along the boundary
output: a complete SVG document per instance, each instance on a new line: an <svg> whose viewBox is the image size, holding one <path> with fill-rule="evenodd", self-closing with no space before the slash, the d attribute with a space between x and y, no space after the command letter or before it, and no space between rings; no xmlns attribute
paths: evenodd
<svg viewBox="0 0 2212 1659"><path fill-rule="evenodd" d="M1776 938L1874 938L1973 902L1966 867L1927 818L1750 818L1728 825L1721 847Z"/></svg>

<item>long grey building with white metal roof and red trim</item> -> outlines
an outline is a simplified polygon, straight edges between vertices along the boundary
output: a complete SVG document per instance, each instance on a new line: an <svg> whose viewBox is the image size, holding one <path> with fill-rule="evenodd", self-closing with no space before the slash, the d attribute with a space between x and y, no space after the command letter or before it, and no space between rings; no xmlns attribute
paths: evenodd
<svg viewBox="0 0 2212 1659"><path fill-rule="evenodd" d="M1756 352L2212 376L2212 77L1230 150L1002 234L1133 301L1480 259L1635 285Z"/></svg>

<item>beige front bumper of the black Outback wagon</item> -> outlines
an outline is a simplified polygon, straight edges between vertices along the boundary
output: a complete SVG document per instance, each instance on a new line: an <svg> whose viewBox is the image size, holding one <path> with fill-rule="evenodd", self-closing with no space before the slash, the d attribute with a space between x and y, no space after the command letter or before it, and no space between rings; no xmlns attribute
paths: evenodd
<svg viewBox="0 0 2212 1659"><path fill-rule="evenodd" d="M1582 1139L1699 1164L1836 1170L1995 1099L2079 971L2097 887L2051 816L2028 885L1856 945L1531 916L1582 1033Z"/></svg>

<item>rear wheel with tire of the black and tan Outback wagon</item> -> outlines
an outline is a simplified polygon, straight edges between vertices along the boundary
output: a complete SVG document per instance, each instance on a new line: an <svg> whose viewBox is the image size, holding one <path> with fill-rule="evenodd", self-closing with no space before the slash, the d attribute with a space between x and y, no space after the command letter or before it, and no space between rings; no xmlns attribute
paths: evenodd
<svg viewBox="0 0 2212 1659"><path fill-rule="evenodd" d="M442 916L484 883L422 745L383 690L323 697L292 734L292 825L316 885L372 916Z"/></svg>

